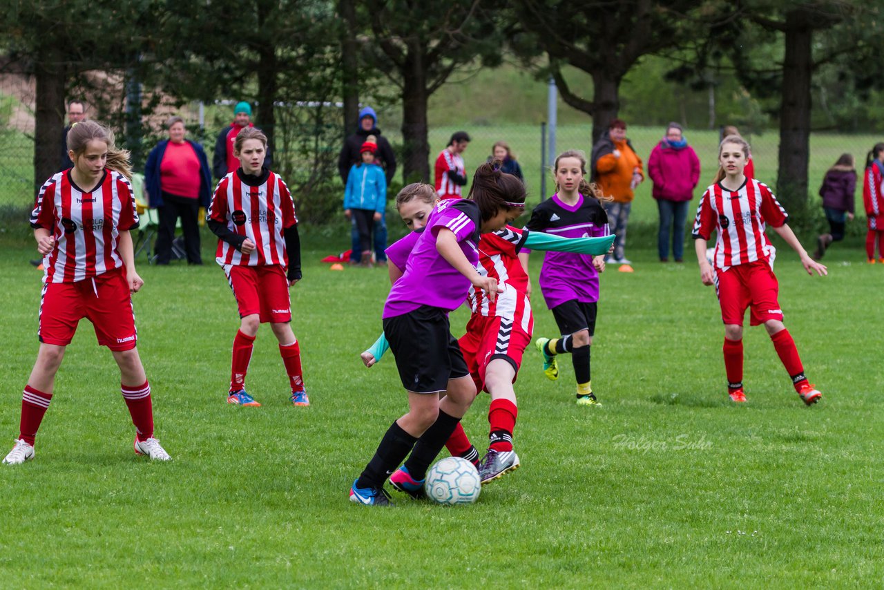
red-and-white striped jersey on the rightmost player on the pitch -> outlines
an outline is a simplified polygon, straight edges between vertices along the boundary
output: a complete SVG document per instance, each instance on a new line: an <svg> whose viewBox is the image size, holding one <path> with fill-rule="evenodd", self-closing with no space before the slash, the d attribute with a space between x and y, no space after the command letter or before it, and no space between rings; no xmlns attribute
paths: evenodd
<svg viewBox="0 0 884 590"><path fill-rule="evenodd" d="M693 236L708 240L716 230L715 268L725 270L756 260L769 263L773 247L765 226L780 227L787 218L765 183L746 179L739 190L731 191L719 182L707 188L700 199Z"/></svg>

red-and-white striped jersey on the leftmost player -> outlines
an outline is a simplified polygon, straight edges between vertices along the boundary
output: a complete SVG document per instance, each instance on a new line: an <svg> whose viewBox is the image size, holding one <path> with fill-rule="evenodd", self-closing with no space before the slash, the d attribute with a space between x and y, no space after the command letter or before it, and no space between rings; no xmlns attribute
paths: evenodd
<svg viewBox="0 0 884 590"><path fill-rule="evenodd" d="M43 282L72 283L121 268L119 233L138 226L132 185L105 169L95 188L84 192L70 170L56 172L40 188L31 226L48 229L55 238L43 259Z"/></svg>

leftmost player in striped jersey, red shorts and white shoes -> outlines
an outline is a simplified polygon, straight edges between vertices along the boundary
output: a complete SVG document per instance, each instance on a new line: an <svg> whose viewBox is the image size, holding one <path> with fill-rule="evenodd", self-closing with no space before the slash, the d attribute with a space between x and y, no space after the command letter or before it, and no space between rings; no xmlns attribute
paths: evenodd
<svg viewBox="0 0 884 590"><path fill-rule="evenodd" d="M98 343L110 349L120 390L135 426L138 455L168 461L154 438L150 385L136 348L132 294L144 281L135 271L132 235L138 226L129 176L129 152L95 121L67 134L73 166L43 183L31 213L43 255L43 289L37 334L40 349L21 401L19 440L4 464L34 458L34 437L50 406L55 376L77 324L88 318Z"/></svg>

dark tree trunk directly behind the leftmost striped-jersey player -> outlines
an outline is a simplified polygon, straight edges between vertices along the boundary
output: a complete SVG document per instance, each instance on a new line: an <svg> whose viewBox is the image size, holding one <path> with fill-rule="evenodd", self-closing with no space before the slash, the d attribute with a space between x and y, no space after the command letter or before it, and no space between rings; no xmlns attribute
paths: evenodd
<svg viewBox="0 0 884 590"><path fill-rule="evenodd" d="M65 81L62 50L52 43L38 50L34 63L34 195L61 167L61 141L65 134ZM29 203L33 204L33 203Z"/></svg>

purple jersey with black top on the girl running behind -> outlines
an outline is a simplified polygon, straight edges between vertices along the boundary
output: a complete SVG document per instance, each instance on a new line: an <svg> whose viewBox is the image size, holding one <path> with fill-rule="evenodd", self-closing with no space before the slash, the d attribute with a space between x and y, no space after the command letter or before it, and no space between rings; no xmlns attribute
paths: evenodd
<svg viewBox="0 0 884 590"><path fill-rule="evenodd" d="M534 208L525 227L532 232L563 238L594 238L610 234L601 203L583 195L574 205L562 203L559 195L552 195ZM586 254L546 252L538 282L550 309L568 301L598 301L598 272L592 265L592 257Z"/></svg>

